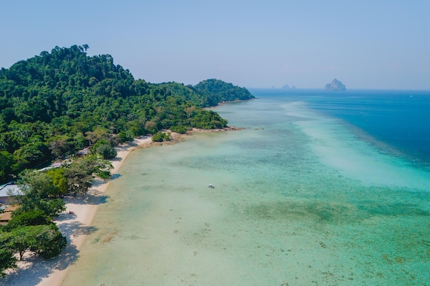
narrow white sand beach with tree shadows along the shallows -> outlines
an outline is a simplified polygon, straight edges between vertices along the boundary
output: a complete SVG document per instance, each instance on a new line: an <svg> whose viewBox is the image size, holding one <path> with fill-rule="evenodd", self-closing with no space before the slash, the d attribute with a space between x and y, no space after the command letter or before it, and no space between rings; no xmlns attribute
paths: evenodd
<svg viewBox="0 0 430 286"><path fill-rule="evenodd" d="M118 169L131 151L151 143L150 136L141 136L132 143L118 146L116 148L117 157L111 160L113 179L118 176ZM96 180L93 188L85 197L65 198L66 211L59 215L56 224L63 235L67 237L68 245L58 257L43 261L43 259L34 257L30 253L25 253L23 261L19 261L19 267L9 271L6 278L0 279L0 285L60 286L68 266L77 259L85 237L93 229L91 223L98 206L106 200L104 192L109 182Z"/></svg>

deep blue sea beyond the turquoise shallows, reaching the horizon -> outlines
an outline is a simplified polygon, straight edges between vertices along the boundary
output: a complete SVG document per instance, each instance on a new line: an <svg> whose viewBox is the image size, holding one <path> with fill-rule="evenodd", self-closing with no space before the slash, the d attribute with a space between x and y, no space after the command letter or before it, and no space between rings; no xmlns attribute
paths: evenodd
<svg viewBox="0 0 430 286"><path fill-rule="evenodd" d="M430 91L254 89L256 97L303 101L386 143L395 154L430 164ZM370 140L370 138L368 138Z"/></svg>

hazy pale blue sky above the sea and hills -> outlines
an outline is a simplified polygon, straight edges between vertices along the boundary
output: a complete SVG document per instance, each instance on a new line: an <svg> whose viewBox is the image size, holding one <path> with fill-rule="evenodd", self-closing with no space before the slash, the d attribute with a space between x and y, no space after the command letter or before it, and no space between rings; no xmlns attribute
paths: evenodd
<svg viewBox="0 0 430 286"><path fill-rule="evenodd" d="M148 82L430 89L430 0L14 0L0 67L89 45Z"/></svg>

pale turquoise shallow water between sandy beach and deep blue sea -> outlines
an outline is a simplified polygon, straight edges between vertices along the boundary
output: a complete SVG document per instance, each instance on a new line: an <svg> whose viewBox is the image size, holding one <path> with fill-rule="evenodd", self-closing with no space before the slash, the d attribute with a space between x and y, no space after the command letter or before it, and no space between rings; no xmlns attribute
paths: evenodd
<svg viewBox="0 0 430 286"><path fill-rule="evenodd" d="M296 98L216 111L247 129L128 156L65 285L430 285L425 165Z"/></svg>

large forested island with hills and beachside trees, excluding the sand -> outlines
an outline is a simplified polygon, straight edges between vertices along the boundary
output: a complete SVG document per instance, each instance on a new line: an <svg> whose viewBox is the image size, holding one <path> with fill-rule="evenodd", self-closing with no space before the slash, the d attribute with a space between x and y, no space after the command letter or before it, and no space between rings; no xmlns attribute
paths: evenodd
<svg viewBox="0 0 430 286"><path fill-rule="evenodd" d="M0 69L0 279L27 255L52 259L75 240L58 228L59 215L76 218L65 197L109 180L126 144L225 130L227 120L207 107L254 98L217 79L136 80L112 56L87 49L55 47Z"/></svg>

